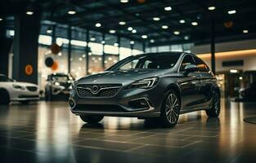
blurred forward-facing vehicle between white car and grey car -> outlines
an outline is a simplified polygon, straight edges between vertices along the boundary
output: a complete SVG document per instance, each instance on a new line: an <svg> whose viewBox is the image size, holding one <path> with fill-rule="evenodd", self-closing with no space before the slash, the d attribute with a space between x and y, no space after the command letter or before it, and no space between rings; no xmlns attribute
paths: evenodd
<svg viewBox="0 0 256 163"><path fill-rule="evenodd" d="M47 85L45 86L45 99L52 100L55 97L70 94L71 84L74 77L65 73L52 73L47 77Z"/></svg>

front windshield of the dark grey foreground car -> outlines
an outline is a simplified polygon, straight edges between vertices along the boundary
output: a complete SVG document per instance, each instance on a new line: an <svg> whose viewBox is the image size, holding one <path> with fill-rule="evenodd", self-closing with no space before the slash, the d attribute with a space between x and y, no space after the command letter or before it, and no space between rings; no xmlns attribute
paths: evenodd
<svg viewBox="0 0 256 163"><path fill-rule="evenodd" d="M150 54L128 57L113 65L108 70L125 70L125 69L167 69L173 68L179 59L180 53L170 54Z"/></svg>

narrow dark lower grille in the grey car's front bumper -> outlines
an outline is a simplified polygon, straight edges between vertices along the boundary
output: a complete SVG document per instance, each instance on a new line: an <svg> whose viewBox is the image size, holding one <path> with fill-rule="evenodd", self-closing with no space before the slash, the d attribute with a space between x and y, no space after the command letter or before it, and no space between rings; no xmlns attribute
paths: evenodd
<svg viewBox="0 0 256 163"><path fill-rule="evenodd" d="M124 108L114 104L79 104L73 111L82 112L127 112Z"/></svg>

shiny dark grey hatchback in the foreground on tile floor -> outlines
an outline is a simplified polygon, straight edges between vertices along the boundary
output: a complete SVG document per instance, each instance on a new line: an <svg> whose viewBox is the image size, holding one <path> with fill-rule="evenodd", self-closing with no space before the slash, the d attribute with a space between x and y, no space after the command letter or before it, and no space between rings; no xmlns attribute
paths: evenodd
<svg viewBox="0 0 256 163"><path fill-rule="evenodd" d="M71 112L88 123L104 116L138 117L172 127L186 112L205 110L218 117L220 90L196 55L150 53L129 56L103 73L75 81L69 102Z"/></svg>

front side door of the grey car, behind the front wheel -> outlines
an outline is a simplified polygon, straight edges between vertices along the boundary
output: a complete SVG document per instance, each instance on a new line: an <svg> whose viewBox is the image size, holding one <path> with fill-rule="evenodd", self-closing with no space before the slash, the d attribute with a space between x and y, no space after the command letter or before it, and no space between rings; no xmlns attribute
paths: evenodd
<svg viewBox="0 0 256 163"><path fill-rule="evenodd" d="M195 64L192 55L185 55L180 64L178 73L182 73L182 77L178 80L181 89L182 110L198 107L200 104L200 73L192 72L185 74L185 67L188 64Z"/></svg>

